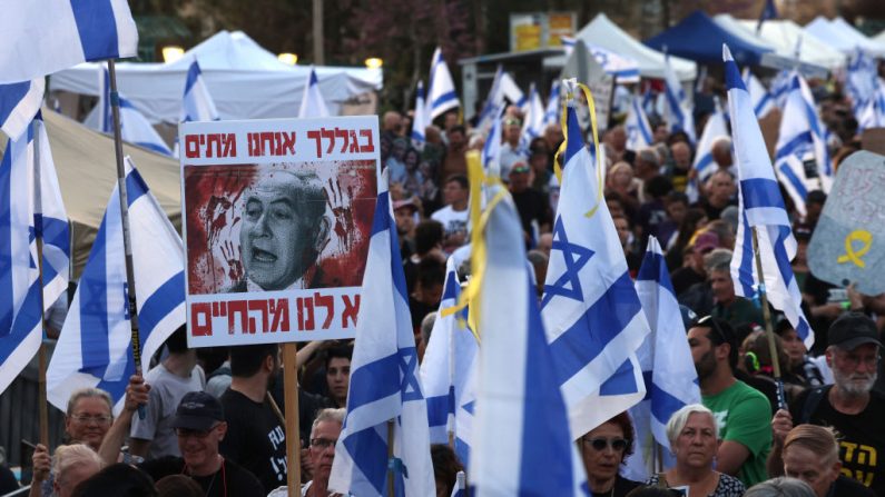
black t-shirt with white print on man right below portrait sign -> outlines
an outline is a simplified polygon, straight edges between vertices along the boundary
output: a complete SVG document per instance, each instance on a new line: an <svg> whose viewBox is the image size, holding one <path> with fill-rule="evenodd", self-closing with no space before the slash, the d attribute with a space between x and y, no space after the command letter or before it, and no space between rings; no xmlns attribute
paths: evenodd
<svg viewBox="0 0 885 497"><path fill-rule="evenodd" d="M267 400L255 402L228 389L220 401L227 435L218 451L252 471L264 486L265 495L286 485L286 435Z"/></svg>

